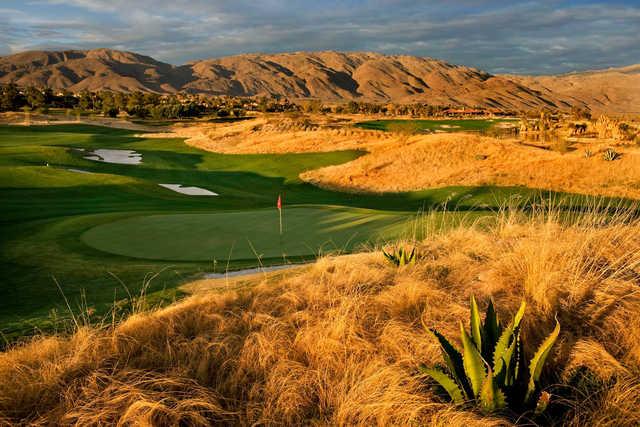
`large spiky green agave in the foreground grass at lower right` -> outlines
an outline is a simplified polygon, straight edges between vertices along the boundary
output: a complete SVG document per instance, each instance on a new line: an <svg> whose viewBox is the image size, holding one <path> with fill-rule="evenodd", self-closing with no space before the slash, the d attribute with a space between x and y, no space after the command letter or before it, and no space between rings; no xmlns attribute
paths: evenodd
<svg viewBox="0 0 640 427"><path fill-rule="evenodd" d="M454 403L473 402L488 413L507 407L523 411L537 402L536 412L544 411L550 395L539 393L538 381L560 334L560 324L556 320L551 334L527 362L520 336L525 307L523 301L505 327L498 319L493 302L489 302L483 323L476 300L471 297L471 331L467 333L460 322L462 352L431 329L440 343L447 369L422 366L421 370L442 386Z"/></svg>

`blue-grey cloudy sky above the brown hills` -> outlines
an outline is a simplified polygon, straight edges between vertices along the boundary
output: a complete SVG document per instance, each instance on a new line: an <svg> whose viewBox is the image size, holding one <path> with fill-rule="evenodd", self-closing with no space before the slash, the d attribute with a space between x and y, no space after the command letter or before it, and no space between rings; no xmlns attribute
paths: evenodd
<svg viewBox="0 0 640 427"><path fill-rule="evenodd" d="M640 0L0 0L0 55L101 47L176 65L339 50L555 74L640 63Z"/></svg>

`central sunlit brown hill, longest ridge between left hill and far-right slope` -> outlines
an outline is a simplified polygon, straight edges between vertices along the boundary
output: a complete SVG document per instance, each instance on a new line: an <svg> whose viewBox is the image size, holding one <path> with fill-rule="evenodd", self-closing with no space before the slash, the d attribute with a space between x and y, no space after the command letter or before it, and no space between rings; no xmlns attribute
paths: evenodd
<svg viewBox="0 0 640 427"><path fill-rule="evenodd" d="M197 92L534 108L553 101L509 79L431 58L378 53L238 55L192 64Z"/></svg>

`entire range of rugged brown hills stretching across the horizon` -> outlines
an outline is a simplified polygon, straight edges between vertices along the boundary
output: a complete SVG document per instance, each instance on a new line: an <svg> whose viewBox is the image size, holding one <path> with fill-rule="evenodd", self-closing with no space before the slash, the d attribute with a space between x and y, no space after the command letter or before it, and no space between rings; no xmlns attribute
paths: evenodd
<svg viewBox="0 0 640 427"><path fill-rule="evenodd" d="M0 83L71 91L189 91L325 101L422 101L510 110L577 105L633 111L640 100L638 74L633 70L500 76L431 58L331 51L245 54L174 66L131 52L97 49L1 57Z"/></svg>

